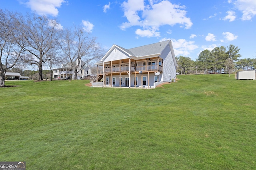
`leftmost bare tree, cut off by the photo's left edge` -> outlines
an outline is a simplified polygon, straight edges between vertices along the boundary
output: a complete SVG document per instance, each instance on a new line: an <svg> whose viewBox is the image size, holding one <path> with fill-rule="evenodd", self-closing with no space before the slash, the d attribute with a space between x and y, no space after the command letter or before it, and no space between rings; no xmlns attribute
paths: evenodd
<svg viewBox="0 0 256 170"><path fill-rule="evenodd" d="M24 40L16 29L18 15L0 9L0 86L4 86L6 70L16 64L23 51L23 46L16 44Z"/></svg>

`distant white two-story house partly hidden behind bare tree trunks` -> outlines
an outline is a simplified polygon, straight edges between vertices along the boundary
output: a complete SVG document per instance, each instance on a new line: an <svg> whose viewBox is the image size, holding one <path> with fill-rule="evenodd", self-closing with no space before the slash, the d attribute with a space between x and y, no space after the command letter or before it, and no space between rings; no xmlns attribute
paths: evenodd
<svg viewBox="0 0 256 170"><path fill-rule="evenodd" d="M78 65L78 60L76 61L76 66ZM61 64L61 68L53 69L53 78L54 79L69 79L70 77L74 79L74 72L76 66L72 66L72 64ZM82 68L81 68L82 66ZM90 67L84 65L84 62L80 60L80 64L77 67L78 73L77 73L77 79L84 78L85 76L90 76Z"/></svg>

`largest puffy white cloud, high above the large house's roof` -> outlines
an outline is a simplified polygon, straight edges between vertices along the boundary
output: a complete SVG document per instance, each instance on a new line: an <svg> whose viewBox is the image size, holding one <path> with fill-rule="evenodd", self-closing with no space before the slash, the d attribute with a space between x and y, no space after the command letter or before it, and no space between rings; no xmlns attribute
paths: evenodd
<svg viewBox="0 0 256 170"><path fill-rule="evenodd" d="M173 26L176 24L180 24L186 29L192 27L193 23L190 18L186 17L185 6L172 4L168 0L157 2L159 0L149 0L149 4L144 3L144 0L123 2L124 16L128 21L122 23L120 29L140 26L144 30L159 30L162 25Z"/></svg>

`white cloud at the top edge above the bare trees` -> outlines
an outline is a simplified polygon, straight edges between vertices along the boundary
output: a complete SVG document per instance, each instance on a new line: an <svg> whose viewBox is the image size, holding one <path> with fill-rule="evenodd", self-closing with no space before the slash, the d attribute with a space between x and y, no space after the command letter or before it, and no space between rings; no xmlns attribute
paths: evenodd
<svg viewBox="0 0 256 170"><path fill-rule="evenodd" d="M28 0L24 4L39 15L57 16L59 12L57 8L64 2L64 0Z"/></svg>

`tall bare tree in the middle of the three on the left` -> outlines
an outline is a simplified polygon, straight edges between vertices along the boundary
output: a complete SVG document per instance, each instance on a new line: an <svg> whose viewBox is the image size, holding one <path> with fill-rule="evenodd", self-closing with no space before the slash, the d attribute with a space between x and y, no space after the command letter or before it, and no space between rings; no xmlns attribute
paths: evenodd
<svg viewBox="0 0 256 170"><path fill-rule="evenodd" d="M55 36L58 23L56 20L50 20L46 16L32 16L27 14L26 19L20 18L20 31L26 37L25 43L19 43L24 46L23 60L29 64L36 64L39 70L38 80L43 80L42 67L48 61L48 52L56 46Z"/></svg>

